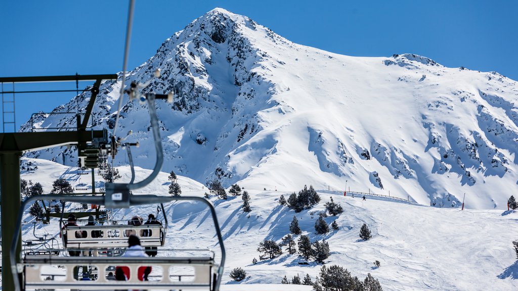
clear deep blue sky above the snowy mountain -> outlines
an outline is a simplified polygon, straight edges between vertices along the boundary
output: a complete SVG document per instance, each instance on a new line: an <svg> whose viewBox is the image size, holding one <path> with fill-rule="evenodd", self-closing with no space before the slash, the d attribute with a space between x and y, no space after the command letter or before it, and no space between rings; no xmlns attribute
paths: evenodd
<svg viewBox="0 0 518 291"><path fill-rule="evenodd" d="M166 38L214 7L330 52L415 53L444 66L494 70L518 80L518 1L511 0L137 0L128 68L145 62ZM121 71L127 11L127 0L0 2L0 77ZM71 97L34 102L17 95L17 125Z"/></svg>

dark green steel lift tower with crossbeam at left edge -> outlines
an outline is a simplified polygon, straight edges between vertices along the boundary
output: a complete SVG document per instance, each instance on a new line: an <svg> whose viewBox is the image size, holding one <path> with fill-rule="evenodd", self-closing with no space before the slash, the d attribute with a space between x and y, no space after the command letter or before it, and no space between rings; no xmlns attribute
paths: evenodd
<svg viewBox="0 0 518 291"><path fill-rule="evenodd" d="M15 228L12 219L18 217L20 209L20 157L25 151L39 150L66 144L77 144L78 148L86 147L87 143L96 140L108 140L107 131L86 130L86 124L99 93L102 80L117 79L116 74L111 75L72 75L72 76L46 76L46 77L7 77L0 78L1 82L63 82L63 81L95 81L90 89L92 96L87 107L84 119L78 117L77 130L67 132L37 132L37 133L3 133L0 134L0 193L2 206L2 249L10 250L12 238L15 236ZM14 92L16 93L16 92ZM37 91L35 91L37 93ZM19 234L18 234L19 235ZM21 251L21 243L16 246L17 254ZM20 258L15 258L20 262ZM10 253L2 252L2 288L14 290L12 269L10 266ZM19 278L21 280L21 278Z"/></svg>

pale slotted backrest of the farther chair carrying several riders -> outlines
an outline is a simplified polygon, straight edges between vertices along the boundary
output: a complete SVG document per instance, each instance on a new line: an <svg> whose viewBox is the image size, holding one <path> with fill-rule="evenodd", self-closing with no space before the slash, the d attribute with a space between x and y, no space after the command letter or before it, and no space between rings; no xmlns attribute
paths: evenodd
<svg viewBox="0 0 518 291"><path fill-rule="evenodd" d="M163 246L165 242L161 224L65 226L61 237L67 249L91 249L125 248L130 235L136 235L142 246Z"/></svg>

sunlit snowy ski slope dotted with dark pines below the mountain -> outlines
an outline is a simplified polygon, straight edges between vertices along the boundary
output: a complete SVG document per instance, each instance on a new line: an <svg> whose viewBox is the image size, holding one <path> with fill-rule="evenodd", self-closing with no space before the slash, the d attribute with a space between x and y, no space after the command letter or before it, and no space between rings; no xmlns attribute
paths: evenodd
<svg viewBox="0 0 518 291"><path fill-rule="evenodd" d="M35 171L25 172L22 179L39 182L45 193L52 189L52 182L64 178L76 186L89 184L90 175L79 175L78 168L66 167L43 159L30 159L38 166ZM131 178L129 167L120 167L122 178L117 182L127 182ZM296 169L294 169L296 171ZM136 181L145 178L149 170L136 168ZM274 174L274 173L272 173ZM168 173L161 173L150 185L135 191L139 194L168 194ZM96 181L102 181L96 176ZM182 196L199 196L209 192L207 187L189 178L178 176ZM98 184L98 186L101 183ZM102 185L101 185L102 186ZM322 200L313 208L295 213L278 203L280 195L288 197L292 192L267 189L260 184L240 184L248 191L252 211L243 212L241 196L229 194L222 200L211 194L221 226L226 248L226 264L221 290L311 290L311 286L285 285L281 280L291 280L309 274L314 281L322 265L308 260L308 265L300 265L306 260L298 254L286 251L275 259L260 260L258 244L265 240L280 242L290 233L289 226L295 215L303 234L311 242L325 239L329 243L330 256L326 266L339 265L347 268L360 280L370 273L378 279L383 290L513 290L518 288L518 261L512 241L518 239L518 213L507 209L472 210L459 208L437 208L401 202L399 199L367 195L359 197L343 196L342 191L330 193L319 190ZM308 185L309 186L309 185ZM333 189L331 189L333 190ZM91 191L91 190L88 190ZM85 192L88 192L85 191ZM333 221L339 230L325 235L315 234L314 223L319 213L325 211L324 203L333 197L343 207L343 213L325 218L327 224ZM467 197L469 199L469 197ZM67 207L71 207L68 204ZM172 202L164 205L169 220L166 243L163 249L214 250L219 261L219 246L209 218L208 209L196 202ZM91 211L91 210L90 210ZM156 213L156 205L115 209L113 219L129 220L133 215L144 218ZM158 217L162 219L161 216ZM24 215L23 240L34 239L34 219ZM367 224L372 238L363 241L359 229ZM59 221L50 224L36 224L36 235L48 235L59 239ZM295 241L298 236L294 235ZM61 244L61 240L60 240ZM42 250L44 250L42 248ZM161 251L159 256L171 255ZM252 264L256 258L258 262ZM380 267L373 262L379 260ZM237 267L247 272L247 278L235 282L229 273ZM54 272L60 272L54 269Z"/></svg>

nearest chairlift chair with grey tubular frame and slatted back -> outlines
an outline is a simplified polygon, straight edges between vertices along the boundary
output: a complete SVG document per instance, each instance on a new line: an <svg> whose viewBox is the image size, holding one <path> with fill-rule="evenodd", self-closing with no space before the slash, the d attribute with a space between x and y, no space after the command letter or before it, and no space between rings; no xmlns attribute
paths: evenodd
<svg viewBox="0 0 518 291"><path fill-rule="evenodd" d="M107 197L95 196L69 196L69 195L38 195L27 198L22 202L22 209L34 200L38 199L63 199L74 202L95 203L106 205L110 203ZM82 289L82 290L116 290L116 289L195 289L195 290L219 290L222 280L223 266L225 262L225 249L223 246L223 238L218 224L215 209L210 201L202 197L187 196L156 196L156 195L131 195L128 197L127 203L131 206L146 205L149 203L165 203L175 200L195 200L205 203L210 209L215 232L221 249L221 260L219 263L215 261L214 253L195 255L195 256L179 256L179 257L63 257L40 254L37 256L25 256L21 260L21 264L16 264L16 249L11 249L11 264L13 266L13 276L18 274L24 275L24 290L38 289ZM21 214L17 223L17 231L21 228ZM109 225L108 225L109 226ZM109 226L114 227L114 226ZM118 227L118 226L117 226ZM130 226L131 227L131 226ZM66 229L69 229L68 227ZM80 229L86 229L80 227ZM99 228L94 226L95 230ZM104 228L102 228L104 229ZM142 230L145 230L143 228ZM122 230L122 229L121 229ZM125 230L125 229L124 229ZM68 231L76 231L69 229ZM104 230L105 231L105 230ZM107 231L107 230L106 230ZM69 237L72 232L69 232ZM13 243L18 242L19 235L15 236ZM145 239L145 238L141 238ZM99 243L101 244L101 243ZM98 245L99 245L98 244ZM16 244L13 244L16 245ZM69 249L70 242L67 242ZM127 244L126 244L127 245ZM74 245L75 246L75 245ZM82 246L81 246L82 247ZM48 276L48 270L51 266L62 266L64 275L54 274L54 279ZM88 269L97 269L99 273L107 273L107 270L113 269L113 266L124 266L130 269L130 278L127 281L116 281L107 278L107 275L98 275L95 280L93 278L81 278L75 274L78 267L88 266ZM152 266L155 274L154 280L140 281L137 278L138 269L141 267ZM180 281L178 278L182 276L178 273L180 267L191 268L193 278L191 281ZM105 270L104 272L102 270ZM88 279L88 280L87 280ZM18 282L17 280L15 280Z"/></svg>

